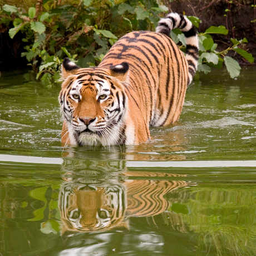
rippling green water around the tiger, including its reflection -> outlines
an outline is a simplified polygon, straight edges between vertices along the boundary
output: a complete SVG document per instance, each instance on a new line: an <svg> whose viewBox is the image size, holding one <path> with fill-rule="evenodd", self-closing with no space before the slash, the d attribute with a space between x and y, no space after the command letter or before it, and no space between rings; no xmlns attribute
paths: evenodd
<svg viewBox="0 0 256 256"><path fill-rule="evenodd" d="M129 147L61 147L60 86L0 78L0 255L256 255L255 67Z"/></svg>

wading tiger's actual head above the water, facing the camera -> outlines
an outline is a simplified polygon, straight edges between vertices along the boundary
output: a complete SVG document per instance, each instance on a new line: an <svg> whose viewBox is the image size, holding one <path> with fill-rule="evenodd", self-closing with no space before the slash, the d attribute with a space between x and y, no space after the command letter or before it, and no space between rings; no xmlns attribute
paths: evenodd
<svg viewBox="0 0 256 256"><path fill-rule="evenodd" d="M65 58L59 96L64 120L62 137L68 136L72 145L122 143L128 72L126 62L110 68L80 68Z"/></svg>

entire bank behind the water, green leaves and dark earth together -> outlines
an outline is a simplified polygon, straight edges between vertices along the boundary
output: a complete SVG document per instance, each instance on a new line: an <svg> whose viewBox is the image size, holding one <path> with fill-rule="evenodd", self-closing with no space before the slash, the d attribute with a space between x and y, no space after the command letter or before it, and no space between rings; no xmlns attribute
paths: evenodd
<svg viewBox="0 0 256 256"><path fill-rule="evenodd" d="M9 0L0 2L0 69L30 65L37 78L52 85L69 57L78 66L97 66L121 36L154 31L168 12L189 17L199 31L199 72L240 65L256 55L256 0ZM171 38L185 49L183 34Z"/></svg>

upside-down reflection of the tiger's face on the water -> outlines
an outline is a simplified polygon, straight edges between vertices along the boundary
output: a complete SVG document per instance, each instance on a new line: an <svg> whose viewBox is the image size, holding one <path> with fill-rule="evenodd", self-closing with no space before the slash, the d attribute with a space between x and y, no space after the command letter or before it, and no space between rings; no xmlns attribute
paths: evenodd
<svg viewBox="0 0 256 256"><path fill-rule="evenodd" d="M121 185L64 184L59 195L62 234L126 228L126 196Z"/></svg>

